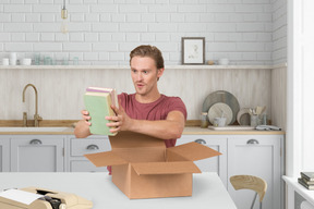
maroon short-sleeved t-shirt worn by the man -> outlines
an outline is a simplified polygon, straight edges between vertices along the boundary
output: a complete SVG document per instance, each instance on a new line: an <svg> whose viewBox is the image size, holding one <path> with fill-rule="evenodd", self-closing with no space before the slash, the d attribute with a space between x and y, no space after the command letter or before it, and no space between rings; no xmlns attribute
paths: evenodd
<svg viewBox="0 0 314 209"><path fill-rule="evenodd" d="M166 120L169 112L181 111L186 120L186 108L179 97L167 97L161 95L159 99L150 103L136 101L135 94L128 95L122 93L118 96L122 108L131 119L136 120ZM166 147L173 147L177 138L166 139Z"/></svg>

